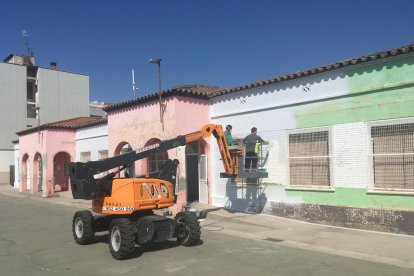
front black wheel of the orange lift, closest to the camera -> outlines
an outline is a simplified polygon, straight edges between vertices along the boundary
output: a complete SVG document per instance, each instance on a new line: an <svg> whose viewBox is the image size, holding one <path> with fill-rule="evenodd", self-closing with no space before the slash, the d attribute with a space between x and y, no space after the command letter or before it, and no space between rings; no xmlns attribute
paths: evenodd
<svg viewBox="0 0 414 276"><path fill-rule="evenodd" d="M112 220L109 227L109 251L116 260L128 258L135 248L135 230L128 218Z"/></svg>

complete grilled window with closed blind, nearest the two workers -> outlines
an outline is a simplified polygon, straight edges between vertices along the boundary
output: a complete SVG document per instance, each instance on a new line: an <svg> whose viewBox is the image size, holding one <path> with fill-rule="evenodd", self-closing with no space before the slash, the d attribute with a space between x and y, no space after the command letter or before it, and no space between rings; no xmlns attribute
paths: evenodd
<svg viewBox="0 0 414 276"><path fill-rule="evenodd" d="M329 186L329 132L289 134L291 186Z"/></svg>

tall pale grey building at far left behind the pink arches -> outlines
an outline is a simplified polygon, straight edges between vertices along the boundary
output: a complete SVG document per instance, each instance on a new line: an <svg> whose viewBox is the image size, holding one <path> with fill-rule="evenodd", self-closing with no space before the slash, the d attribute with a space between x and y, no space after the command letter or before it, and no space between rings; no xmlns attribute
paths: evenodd
<svg viewBox="0 0 414 276"><path fill-rule="evenodd" d="M13 182L16 132L79 116L89 116L88 76L59 71L54 62L36 66L33 57L0 62L0 183Z"/></svg>

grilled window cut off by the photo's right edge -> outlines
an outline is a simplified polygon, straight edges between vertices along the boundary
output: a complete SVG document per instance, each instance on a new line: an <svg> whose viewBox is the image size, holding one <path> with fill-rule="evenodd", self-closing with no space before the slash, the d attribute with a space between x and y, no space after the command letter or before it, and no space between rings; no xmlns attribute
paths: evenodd
<svg viewBox="0 0 414 276"><path fill-rule="evenodd" d="M414 190L414 123L371 127L374 188Z"/></svg>

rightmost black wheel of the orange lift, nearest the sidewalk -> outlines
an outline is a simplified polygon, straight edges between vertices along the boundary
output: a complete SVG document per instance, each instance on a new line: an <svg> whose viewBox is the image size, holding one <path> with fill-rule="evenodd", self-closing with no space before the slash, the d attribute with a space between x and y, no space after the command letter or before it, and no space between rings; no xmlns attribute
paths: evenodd
<svg viewBox="0 0 414 276"><path fill-rule="evenodd" d="M200 222L194 212L180 212L175 216L175 235L184 246L192 246L200 241Z"/></svg>

